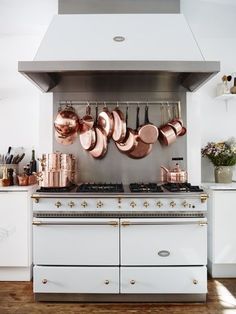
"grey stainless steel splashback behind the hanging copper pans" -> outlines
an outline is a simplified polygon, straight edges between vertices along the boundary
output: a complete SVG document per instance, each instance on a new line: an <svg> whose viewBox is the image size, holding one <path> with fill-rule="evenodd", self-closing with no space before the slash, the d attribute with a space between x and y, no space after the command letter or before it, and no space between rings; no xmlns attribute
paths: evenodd
<svg viewBox="0 0 236 314"><path fill-rule="evenodd" d="M119 98L118 98L119 97ZM100 94L83 94L83 93L54 93L54 117L57 114L59 101L63 100L90 100L101 101L99 109L102 109L103 100L139 100L139 101L155 101L155 100L180 100L182 108L182 118L186 121L186 99L185 93L149 93L147 94L132 94L118 95L115 93L100 93ZM144 106L140 105L140 122L144 120ZM113 103L108 106L110 109L115 107ZM76 106L76 111L79 116L85 114L85 105ZM125 111L125 105L120 108ZM92 108L92 113L95 114L95 107ZM149 105L150 121L156 125L160 125L160 106ZM128 125L135 128L136 124L136 105L129 106L129 123ZM64 153L72 153L78 158L79 181L81 182L123 182L124 184L132 181L149 182L160 180L160 165L170 166L172 157L183 157L184 162L181 166L187 167L187 140L186 136L178 137L177 141L169 147L162 147L159 142L153 145L153 150L147 157L135 160L123 155L118 151L114 142L110 140L108 144L108 153L101 159L93 159L88 152L84 151L80 145L79 139L69 146L63 146L56 142L54 138L53 149Z"/></svg>

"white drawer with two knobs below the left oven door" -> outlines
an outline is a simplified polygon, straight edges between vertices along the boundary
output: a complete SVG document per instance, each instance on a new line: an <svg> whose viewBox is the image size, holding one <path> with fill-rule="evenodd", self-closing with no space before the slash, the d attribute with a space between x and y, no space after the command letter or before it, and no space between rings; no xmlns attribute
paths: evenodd
<svg viewBox="0 0 236 314"><path fill-rule="evenodd" d="M36 293L119 293L118 267L34 267Z"/></svg>

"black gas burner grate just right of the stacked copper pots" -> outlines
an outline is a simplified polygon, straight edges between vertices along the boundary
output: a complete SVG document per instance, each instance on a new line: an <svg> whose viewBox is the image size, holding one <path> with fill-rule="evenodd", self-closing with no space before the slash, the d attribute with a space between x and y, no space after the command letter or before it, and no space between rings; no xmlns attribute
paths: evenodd
<svg viewBox="0 0 236 314"><path fill-rule="evenodd" d="M122 183L83 183L76 189L79 193L123 193Z"/></svg>

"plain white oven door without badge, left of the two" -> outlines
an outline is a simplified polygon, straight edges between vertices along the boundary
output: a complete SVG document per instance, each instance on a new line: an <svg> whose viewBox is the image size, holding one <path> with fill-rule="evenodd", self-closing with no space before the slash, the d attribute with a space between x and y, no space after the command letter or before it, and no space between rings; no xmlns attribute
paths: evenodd
<svg viewBox="0 0 236 314"><path fill-rule="evenodd" d="M118 219L37 219L33 243L37 265L119 265Z"/></svg>

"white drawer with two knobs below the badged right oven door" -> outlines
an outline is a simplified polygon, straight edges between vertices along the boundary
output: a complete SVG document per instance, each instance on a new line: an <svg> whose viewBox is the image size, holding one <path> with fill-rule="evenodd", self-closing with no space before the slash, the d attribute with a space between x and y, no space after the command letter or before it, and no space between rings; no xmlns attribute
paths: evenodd
<svg viewBox="0 0 236 314"><path fill-rule="evenodd" d="M122 267L121 293L207 293L202 267Z"/></svg>

